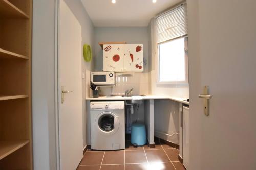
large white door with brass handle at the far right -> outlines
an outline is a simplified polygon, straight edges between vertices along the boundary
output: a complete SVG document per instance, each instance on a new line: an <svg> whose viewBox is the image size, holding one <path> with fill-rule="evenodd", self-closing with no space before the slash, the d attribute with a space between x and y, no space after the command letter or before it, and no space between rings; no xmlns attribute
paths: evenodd
<svg viewBox="0 0 256 170"><path fill-rule="evenodd" d="M256 169L256 1L188 0L189 170ZM209 116L203 86L209 86Z"/></svg>

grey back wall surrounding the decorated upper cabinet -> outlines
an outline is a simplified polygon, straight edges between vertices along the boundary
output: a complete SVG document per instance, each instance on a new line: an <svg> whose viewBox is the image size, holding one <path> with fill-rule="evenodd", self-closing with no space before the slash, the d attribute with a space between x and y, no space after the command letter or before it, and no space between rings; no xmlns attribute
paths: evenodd
<svg viewBox="0 0 256 170"><path fill-rule="evenodd" d="M94 33L94 65L95 71L103 69L103 50L98 45L101 41L127 41L127 43L142 43L143 56L148 61L147 27L96 27ZM148 72L148 65L144 63L144 72Z"/></svg>

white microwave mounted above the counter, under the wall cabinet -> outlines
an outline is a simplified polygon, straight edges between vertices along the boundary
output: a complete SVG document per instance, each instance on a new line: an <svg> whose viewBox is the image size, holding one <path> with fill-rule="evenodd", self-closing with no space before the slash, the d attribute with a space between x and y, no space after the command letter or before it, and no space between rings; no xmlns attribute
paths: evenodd
<svg viewBox="0 0 256 170"><path fill-rule="evenodd" d="M115 72L91 72L91 82L95 85L115 85Z"/></svg>

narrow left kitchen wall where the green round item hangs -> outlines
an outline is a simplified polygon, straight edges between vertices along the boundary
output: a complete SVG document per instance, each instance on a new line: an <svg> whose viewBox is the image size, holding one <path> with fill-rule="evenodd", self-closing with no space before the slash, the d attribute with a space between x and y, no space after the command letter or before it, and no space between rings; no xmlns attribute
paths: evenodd
<svg viewBox="0 0 256 170"><path fill-rule="evenodd" d="M65 0L66 4L69 6L70 10L73 12L77 20L79 21L82 27L82 45L89 44L91 46L92 51L94 50L94 26L84 9L81 1L73 1L73 0ZM86 71L91 71L93 69L93 61L94 57L92 57L91 62L82 60L82 72L86 74ZM86 74L88 77L89 75ZM82 80L82 111L83 111L83 147L86 146L86 96L88 90L86 88L86 79Z"/></svg>

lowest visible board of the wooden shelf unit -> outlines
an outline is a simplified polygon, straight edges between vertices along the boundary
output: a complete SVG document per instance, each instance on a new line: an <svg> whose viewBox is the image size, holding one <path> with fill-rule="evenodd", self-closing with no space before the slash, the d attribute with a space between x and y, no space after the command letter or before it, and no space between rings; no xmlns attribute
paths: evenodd
<svg viewBox="0 0 256 170"><path fill-rule="evenodd" d="M22 141L0 141L0 160L24 147L28 144L28 140Z"/></svg>

